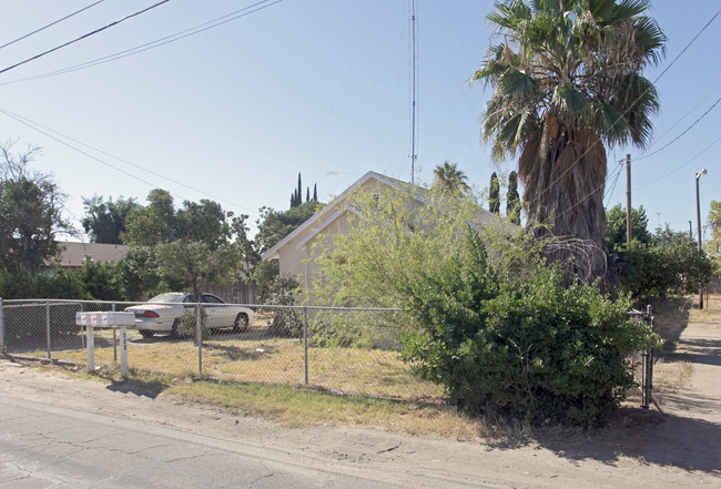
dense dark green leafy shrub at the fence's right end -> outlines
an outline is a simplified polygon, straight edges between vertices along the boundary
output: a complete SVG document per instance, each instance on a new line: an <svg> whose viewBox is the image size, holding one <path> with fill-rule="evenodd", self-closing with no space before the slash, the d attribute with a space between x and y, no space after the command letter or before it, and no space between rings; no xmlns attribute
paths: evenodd
<svg viewBox="0 0 721 489"><path fill-rule="evenodd" d="M518 279L497 272L478 236L446 269L408 283L403 358L470 412L538 424L602 424L633 385L627 354L654 336L596 284L562 287L540 261Z"/></svg>

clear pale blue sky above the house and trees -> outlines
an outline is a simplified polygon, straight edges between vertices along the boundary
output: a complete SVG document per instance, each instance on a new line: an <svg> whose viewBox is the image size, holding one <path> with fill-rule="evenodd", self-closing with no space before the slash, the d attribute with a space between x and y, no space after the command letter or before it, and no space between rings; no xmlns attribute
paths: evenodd
<svg viewBox="0 0 721 489"><path fill-rule="evenodd" d="M161 0L97 1L0 0L0 45L92 4L0 48L0 70ZM416 0L416 183L430 184L444 161L479 191L491 172L515 169L490 162L478 118L491 89L468 83L495 39L491 8ZM626 206L619 162L630 154L632 206L646 208L650 228L688 231L692 221L695 233L702 169L703 222L721 201L720 8L653 2L668 37L662 63L644 72L661 102L654 139L644 150L607 149L607 208ZM0 142L17 153L42 147L33 169L54 175L79 231L82 198L94 194L144 204L160 187L177 206L210 198L255 222L262 206L288 207L298 172L323 202L368 171L409 181L410 11L410 0L170 0L0 73ZM216 19L224 23L207 24Z"/></svg>

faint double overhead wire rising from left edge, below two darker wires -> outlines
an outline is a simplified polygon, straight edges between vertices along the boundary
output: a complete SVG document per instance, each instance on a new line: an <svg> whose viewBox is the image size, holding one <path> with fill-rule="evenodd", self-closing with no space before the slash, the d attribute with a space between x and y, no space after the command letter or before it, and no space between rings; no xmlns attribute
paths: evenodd
<svg viewBox="0 0 721 489"><path fill-rule="evenodd" d="M267 9L268 7L272 7L272 6L276 4L276 3L281 3L283 0L275 0L275 1L271 2L271 3L267 3L268 1L271 1L271 0L261 0L261 1L258 1L256 3L253 3L253 4L248 6L248 7L244 7L244 8L240 9L240 10L235 10L235 11L233 11L231 13L227 13L225 16L222 16L222 17L219 17L216 19L210 20L207 22L203 22L203 23L197 24L195 27L192 27L190 29L185 29L183 31L175 32L174 34L165 35L164 38L160 38L160 39L156 39L154 41L150 41L150 42L146 42L144 44L140 44L140 45L136 45L134 48L126 49L124 51L119 51L119 52L116 52L114 54L108 54L105 57L98 58L98 59L92 60L92 61L87 61L84 63L74 64L72 67L63 68L61 70L57 70L57 71L43 73L43 74L38 74L38 75L34 75L34 77L27 77L27 78L22 78L22 79L18 79L18 80L12 80L12 81L9 81L9 82L3 82L3 83L0 83L0 85L18 83L18 82L22 82L22 81L40 80L40 79L50 78L50 77L57 77L57 75L60 75L60 74L65 74L65 73L71 73L73 71L83 70L85 68L92 68L92 67L95 67L98 64L104 64L104 63L108 63L110 61L120 60L122 58L128 58L128 57L131 57L133 54L139 54L141 52L149 51L149 50L155 49L155 48L160 48L161 45L170 44L171 42L180 41L180 40L189 38L191 35L195 35L195 34L199 34L199 33L204 32L206 30L223 26L223 24L225 24L227 22L232 22L232 21L237 20L237 19L240 19L242 17L250 16L251 13L255 13L255 12L261 11L263 9ZM267 4L263 4L263 3L267 3ZM251 10L251 9L254 9L254 10Z"/></svg>

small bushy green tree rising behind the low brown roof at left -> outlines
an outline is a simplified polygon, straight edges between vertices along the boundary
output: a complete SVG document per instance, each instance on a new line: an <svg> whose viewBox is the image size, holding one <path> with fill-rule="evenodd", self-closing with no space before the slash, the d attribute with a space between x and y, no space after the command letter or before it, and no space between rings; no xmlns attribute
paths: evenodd
<svg viewBox="0 0 721 489"><path fill-rule="evenodd" d="M91 243L123 244L121 234L125 232L125 221L132 211L140 208L138 202L122 196L114 202L112 197L103 202L102 195L97 194L82 201L85 207L82 226Z"/></svg>

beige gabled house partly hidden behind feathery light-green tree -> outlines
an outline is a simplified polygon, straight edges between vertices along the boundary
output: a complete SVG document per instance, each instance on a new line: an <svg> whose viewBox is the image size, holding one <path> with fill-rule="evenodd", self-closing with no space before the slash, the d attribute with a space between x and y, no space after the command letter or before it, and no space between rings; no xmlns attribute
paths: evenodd
<svg viewBox="0 0 721 489"><path fill-rule="evenodd" d="M308 288L314 274L314 267L316 266L313 263L313 253L317 253L317 249L314 252L313 245L317 243L322 236L348 231L348 220L351 216L359 212L351 201L351 196L356 191L364 191L373 194L375 192L380 193L384 187L392 187L404 192L408 192L410 189L413 190L414 202L416 202L418 206L426 204L425 195L428 193L427 189L420 186L410 187L406 182L376 172L368 172L351 185L345 192L328 203L328 205L318 211L317 214L281 240L271 249L265 252L262 258L277 259L281 274L290 273L299 276L302 278L301 284L303 287ZM483 208L478 210L476 224L487 225L498 223L501 223L504 227L516 227L512 224L504 222L504 220L496 214Z"/></svg>

